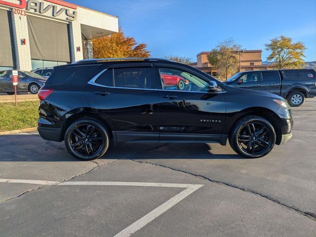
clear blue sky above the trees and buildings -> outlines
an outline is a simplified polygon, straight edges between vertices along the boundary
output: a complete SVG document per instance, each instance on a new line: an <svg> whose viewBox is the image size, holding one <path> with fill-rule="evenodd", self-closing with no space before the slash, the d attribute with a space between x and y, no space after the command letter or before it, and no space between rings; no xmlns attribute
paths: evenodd
<svg viewBox="0 0 316 237"><path fill-rule="evenodd" d="M127 36L145 42L153 57L201 51L234 38L244 49L262 49L284 35L305 43L316 61L316 0L67 0L118 16Z"/></svg>

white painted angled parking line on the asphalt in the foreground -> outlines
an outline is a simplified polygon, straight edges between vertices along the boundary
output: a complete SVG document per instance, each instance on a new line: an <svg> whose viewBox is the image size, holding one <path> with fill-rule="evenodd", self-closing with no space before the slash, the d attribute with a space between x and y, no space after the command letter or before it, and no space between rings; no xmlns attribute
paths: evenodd
<svg viewBox="0 0 316 237"><path fill-rule="evenodd" d="M91 182L91 181L79 181L79 182L56 182L56 181L43 181L43 180L25 180L25 179L0 179L0 183L23 183L23 184L40 184L40 185L105 185L105 186L142 186L142 187L164 187L164 188L185 188L181 193L143 216L142 218L135 221L130 226L119 232L114 237L129 237L136 231L140 230L148 223L156 219L162 213L170 209L172 206L177 204L179 201L188 197L193 192L197 191L202 184L168 184L168 183L142 183L142 182Z"/></svg>

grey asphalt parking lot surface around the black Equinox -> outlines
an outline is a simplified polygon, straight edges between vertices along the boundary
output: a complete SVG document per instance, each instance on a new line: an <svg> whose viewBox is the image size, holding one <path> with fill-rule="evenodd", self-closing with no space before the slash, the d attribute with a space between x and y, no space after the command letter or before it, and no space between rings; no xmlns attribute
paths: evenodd
<svg viewBox="0 0 316 237"><path fill-rule="evenodd" d="M121 144L79 161L37 132L0 136L1 237L316 236L316 98L264 158L218 144Z"/></svg>

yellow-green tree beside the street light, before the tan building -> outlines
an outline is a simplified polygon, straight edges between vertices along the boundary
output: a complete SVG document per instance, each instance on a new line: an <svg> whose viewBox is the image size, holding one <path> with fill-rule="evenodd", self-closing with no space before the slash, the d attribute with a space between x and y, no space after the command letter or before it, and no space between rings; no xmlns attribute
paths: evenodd
<svg viewBox="0 0 316 237"><path fill-rule="evenodd" d="M227 80L228 76L237 72L239 60L236 51L240 49L241 45L231 38L219 42L207 55L207 60L212 66L216 67L217 76L220 79L225 78Z"/></svg>

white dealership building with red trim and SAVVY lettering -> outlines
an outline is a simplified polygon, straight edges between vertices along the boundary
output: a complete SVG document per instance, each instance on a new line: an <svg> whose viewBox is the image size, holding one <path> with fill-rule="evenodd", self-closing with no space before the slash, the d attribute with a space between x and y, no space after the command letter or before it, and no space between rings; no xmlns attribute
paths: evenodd
<svg viewBox="0 0 316 237"><path fill-rule="evenodd" d="M116 32L118 17L63 0L0 0L0 70L93 58L91 40Z"/></svg>

